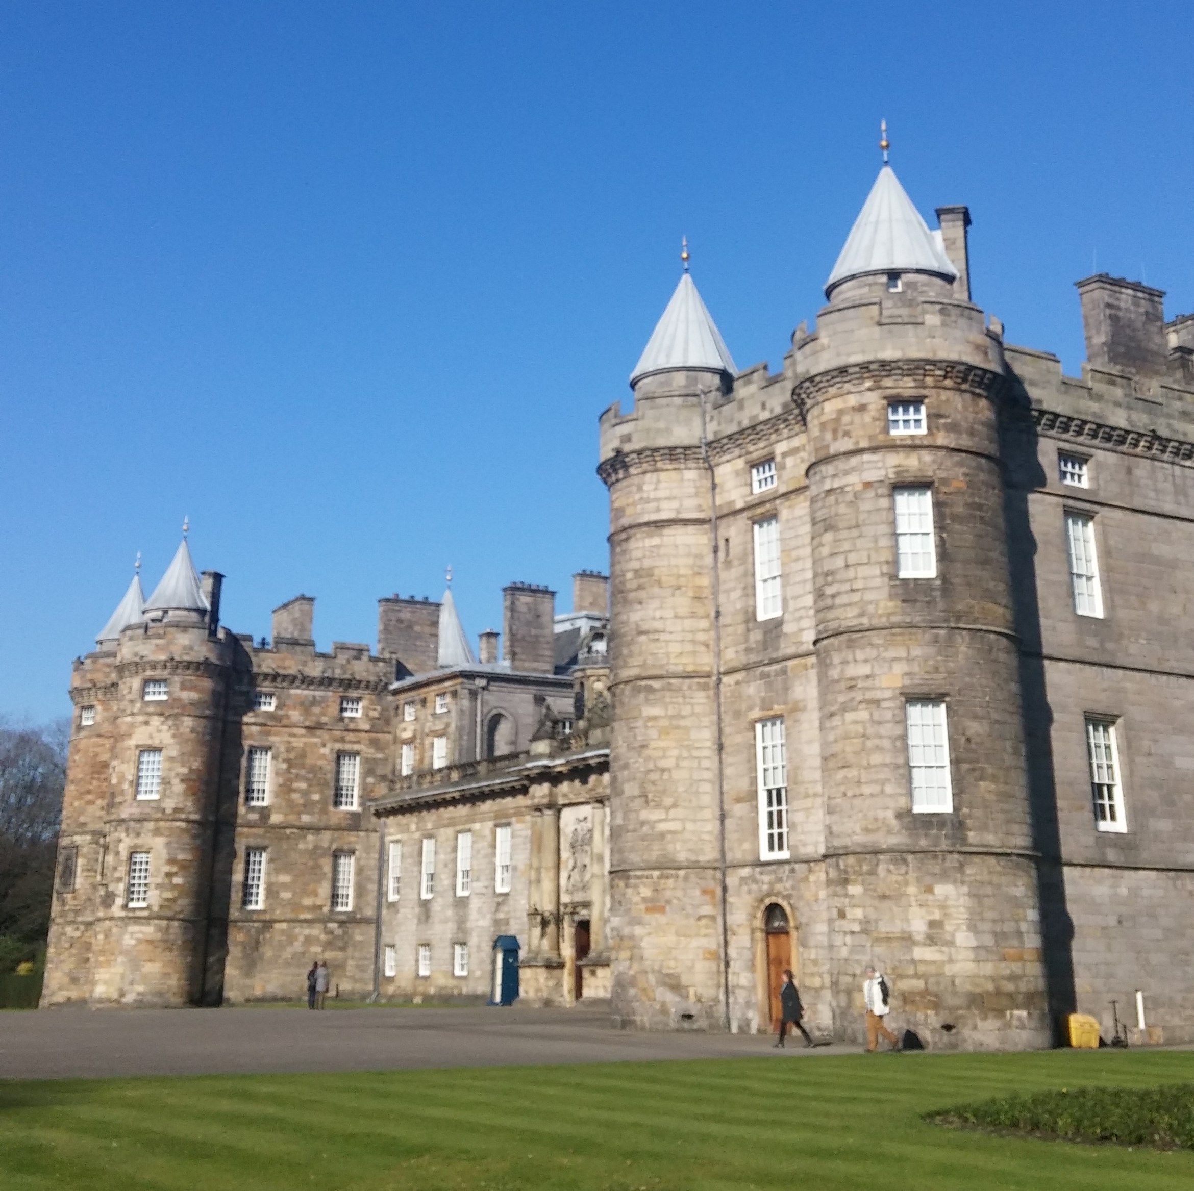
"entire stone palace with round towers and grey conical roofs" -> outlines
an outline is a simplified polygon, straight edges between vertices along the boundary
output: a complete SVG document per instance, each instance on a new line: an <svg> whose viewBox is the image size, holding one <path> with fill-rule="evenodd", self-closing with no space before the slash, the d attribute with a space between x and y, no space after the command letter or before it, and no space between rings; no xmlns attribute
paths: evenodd
<svg viewBox="0 0 1194 1191"><path fill-rule="evenodd" d="M1078 283L1087 363L971 297L884 163L782 368L688 272L601 415L610 580L376 649L220 623L184 539L76 660L43 995L609 998L652 1029L1194 1039L1194 316ZM1144 1019L1137 1017L1141 993ZM1125 1012L1127 1011L1127 1012Z"/></svg>

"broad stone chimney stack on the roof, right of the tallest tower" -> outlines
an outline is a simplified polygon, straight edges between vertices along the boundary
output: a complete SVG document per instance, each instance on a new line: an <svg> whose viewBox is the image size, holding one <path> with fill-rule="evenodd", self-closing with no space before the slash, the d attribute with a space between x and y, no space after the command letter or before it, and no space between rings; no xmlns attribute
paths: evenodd
<svg viewBox="0 0 1194 1191"><path fill-rule="evenodd" d="M1169 371L1164 290L1097 273L1075 283L1082 298L1087 360L1162 377Z"/></svg>

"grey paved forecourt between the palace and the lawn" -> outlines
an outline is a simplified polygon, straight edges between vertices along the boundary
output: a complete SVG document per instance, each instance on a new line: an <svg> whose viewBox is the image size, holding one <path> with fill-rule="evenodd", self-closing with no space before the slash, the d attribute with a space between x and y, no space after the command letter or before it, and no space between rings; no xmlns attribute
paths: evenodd
<svg viewBox="0 0 1194 1191"><path fill-rule="evenodd" d="M799 1036L798 1036L799 1037ZM648 1059L844 1054L778 1051L757 1035L615 1030L595 1008L220 1008L0 1012L0 1079L339 1072Z"/></svg>

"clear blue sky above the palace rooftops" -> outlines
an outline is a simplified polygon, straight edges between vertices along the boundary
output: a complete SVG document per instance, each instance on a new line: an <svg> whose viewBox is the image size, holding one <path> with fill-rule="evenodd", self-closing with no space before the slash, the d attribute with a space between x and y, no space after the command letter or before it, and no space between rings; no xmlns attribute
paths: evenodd
<svg viewBox="0 0 1194 1191"><path fill-rule="evenodd" d="M500 628L604 568L597 416L693 271L778 366L879 166L1077 372L1094 271L1194 309L1188 4L7 5L0 714L68 711L184 513L223 619Z"/></svg>

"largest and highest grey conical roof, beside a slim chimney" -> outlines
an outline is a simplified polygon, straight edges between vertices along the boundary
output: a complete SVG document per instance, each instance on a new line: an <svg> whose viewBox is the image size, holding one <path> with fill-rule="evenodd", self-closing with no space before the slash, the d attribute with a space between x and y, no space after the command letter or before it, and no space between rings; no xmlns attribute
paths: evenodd
<svg viewBox="0 0 1194 1191"><path fill-rule="evenodd" d="M888 165L879 171L850 228L825 283L826 297L838 283L867 273L936 273L949 280L958 276L941 236L929 230Z"/></svg>

